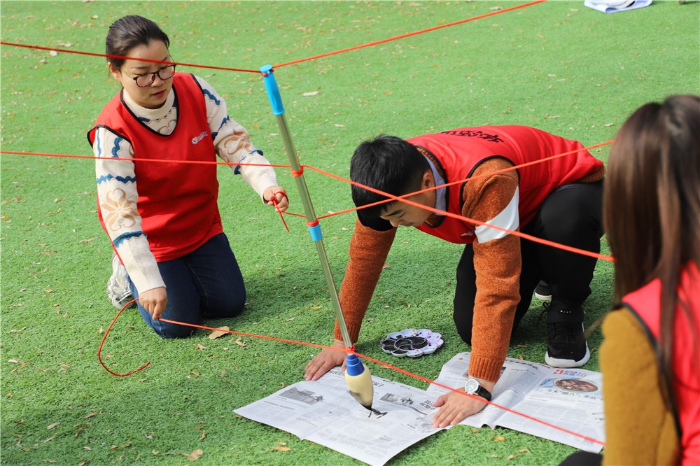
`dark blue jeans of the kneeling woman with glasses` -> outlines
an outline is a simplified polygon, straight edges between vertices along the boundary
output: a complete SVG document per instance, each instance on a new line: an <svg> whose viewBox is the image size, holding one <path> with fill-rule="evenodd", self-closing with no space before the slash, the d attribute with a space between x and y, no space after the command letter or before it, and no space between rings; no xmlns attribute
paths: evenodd
<svg viewBox="0 0 700 466"><path fill-rule="evenodd" d="M200 318L237 316L246 304L246 287L225 234L217 234L191 253L158 262L168 303L162 318L199 324ZM139 291L129 278L134 297ZM141 317L163 338L189 337L194 327L153 320L137 301Z"/></svg>

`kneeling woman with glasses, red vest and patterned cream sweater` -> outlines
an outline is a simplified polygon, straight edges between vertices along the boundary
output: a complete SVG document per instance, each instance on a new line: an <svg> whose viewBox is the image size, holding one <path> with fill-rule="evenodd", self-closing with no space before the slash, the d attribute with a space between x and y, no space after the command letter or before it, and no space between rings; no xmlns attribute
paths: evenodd
<svg viewBox="0 0 700 466"><path fill-rule="evenodd" d="M161 316L196 324L200 317L236 316L246 302L218 211L217 165L182 162L215 162L218 155L234 164L262 164L234 165L234 173L265 204L285 211L288 201L274 169L265 166L269 162L246 129L229 118L216 90L162 63L172 60L169 44L158 24L141 16L111 25L107 62L123 88L87 136L99 157L100 222L116 251L108 288L121 278L139 298L146 323L161 337L177 338L192 327L162 322Z"/></svg>

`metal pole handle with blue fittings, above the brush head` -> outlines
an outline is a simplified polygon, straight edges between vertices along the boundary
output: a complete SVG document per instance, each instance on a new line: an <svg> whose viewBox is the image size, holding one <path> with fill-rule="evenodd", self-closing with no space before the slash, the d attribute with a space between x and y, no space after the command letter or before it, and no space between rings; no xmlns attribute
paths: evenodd
<svg viewBox="0 0 700 466"><path fill-rule="evenodd" d="M289 164L292 167L292 174L294 175L294 180L297 183L297 190L299 191L302 204L304 205L304 212L307 216L307 225L309 227L309 232L311 233L311 239L313 239L314 243L316 243L318 259L321 260L321 269L323 269L323 275L325 275L325 283L328 285L330 299L333 303L333 308L335 309L335 317L338 320L340 333L343 337L343 343L345 344L346 348L350 348L352 346L352 341L350 339L350 334L348 333L345 318L343 317L343 311L340 307L340 300L338 299L338 292L335 288L335 281L333 281L333 274L330 271L328 255L326 255L325 246L323 246L321 226L318 224L316 213L314 213L314 206L311 204L311 197L309 196L309 188L307 188L306 181L304 180L304 174L302 173L301 165L299 163L297 150L294 147L292 136L290 135L289 127L287 126L287 120L284 116L284 107L282 105L282 98L279 94L277 82L274 79L272 65L268 64L262 66L260 68L260 73L262 73L262 80L265 82L265 90L267 90L267 97L269 98L269 103L272 106L272 113L274 113L276 117L277 127L279 127L279 133L282 136L284 148L289 159Z"/></svg>

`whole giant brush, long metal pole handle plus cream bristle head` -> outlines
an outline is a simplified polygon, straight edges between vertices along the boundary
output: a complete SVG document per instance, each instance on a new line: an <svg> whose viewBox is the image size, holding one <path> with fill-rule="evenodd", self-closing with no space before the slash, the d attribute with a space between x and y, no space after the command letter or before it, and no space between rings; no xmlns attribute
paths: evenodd
<svg viewBox="0 0 700 466"><path fill-rule="evenodd" d="M301 168L301 164L299 163L299 156L297 155L297 150L292 141L287 120L284 116L282 97L279 94L279 87L277 87L277 82L274 79L274 70L272 69L272 65L267 64L262 66L260 68L260 74L262 74L262 80L265 83L265 90L267 91L269 104L272 106L272 113L274 113L277 120L279 134L282 136L284 149L286 150L289 164L291 165L292 176L294 176L294 180L297 184L297 190L299 191L302 204L304 205L304 212L307 216L307 226L309 227L309 232L311 233L311 239L313 239L314 243L316 244L318 259L321 260L321 269L323 269L323 274L325 275L325 283L328 285L330 299L333 303L333 309L335 309L335 317L338 320L340 333L343 337L343 343L345 344L346 348L351 348L352 341L350 339L350 334L348 333L343 311L340 307L338 292L335 289L335 281L333 281L333 274L330 271L328 255L326 255L325 246L323 246L321 225L318 224L318 218L316 218L316 213L314 213L314 206L311 204L311 196L309 196L309 188L307 188L306 181L304 180L304 172ZM363 362L360 361L360 358L354 354L347 355L345 366L345 381L348 384L350 393L353 395L353 397L355 397L355 400L363 405L363 407L370 409L371 411L374 390L372 387L372 376L370 376L370 369L367 369L367 366L365 366Z"/></svg>

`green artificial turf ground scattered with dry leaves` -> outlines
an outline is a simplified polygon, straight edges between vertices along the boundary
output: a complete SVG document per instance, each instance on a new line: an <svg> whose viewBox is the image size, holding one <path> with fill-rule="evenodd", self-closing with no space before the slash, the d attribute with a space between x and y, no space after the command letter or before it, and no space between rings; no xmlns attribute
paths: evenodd
<svg viewBox="0 0 700 466"><path fill-rule="evenodd" d="M524 3L524 2L523 2ZM109 24L151 17L179 62L244 69L281 64L514 6L489 2L3 1L2 41L104 52ZM614 15L583 1L548 1L475 22L276 69L302 163L347 176L357 143L380 132L410 137L468 125L531 125L586 145L609 141L641 104L699 93L699 6L654 1ZM118 90L99 57L1 48L2 150L91 155L85 132ZM181 66L214 85L230 115L273 163L286 164L262 79ZM304 93L317 92L313 96ZM593 150L606 160L609 146ZM333 311L304 220L290 232L252 190L220 167L225 232L248 288L246 312L209 321L232 330L330 344ZM60 465L351 465L358 461L232 413L302 379L317 350L251 337L155 337L125 311L97 361L116 313L104 286L111 248L97 223L94 163L1 155L1 463ZM305 177L317 215L351 206L349 187ZM303 209L278 169L290 211ZM339 284L353 214L321 225ZM400 229L360 335L358 351L434 379L460 351L451 320L461 248ZM608 253L603 248L603 253ZM418 278L418 279L416 279ZM612 266L599 262L587 325L612 305ZM543 362L540 304L514 333L508 355ZM379 339L407 327L441 332L440 351L390 358ZM600 331L589 337L595 349ZM426 384L372 365L373 374ZM505 440L495 440L494 436ZM277 451L286 446L289 451ZM574 449L511 430L459 426L400 453L392 464L558 464Z"/></svg>

